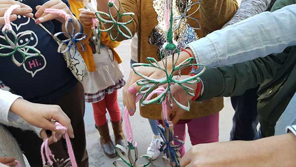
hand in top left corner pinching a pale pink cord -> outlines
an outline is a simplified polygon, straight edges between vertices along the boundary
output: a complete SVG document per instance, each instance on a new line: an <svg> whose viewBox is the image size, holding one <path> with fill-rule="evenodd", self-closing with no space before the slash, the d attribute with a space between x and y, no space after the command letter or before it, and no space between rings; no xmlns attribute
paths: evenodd
<svg viewBox="0 0 296 167"><path fill-rule="evenodd" d="M21 2L18 2L18 1L15 1L15 0L0 0L0 25L3 25L5 24L4 22L4 13L6 12L6 10L14 5L14 4L19 4L21 7L15 9L13 12L12 12L12 15L10 16L10 21L14 21L17 19L17 15L24 15L24 16L27 16L27 17L33 17L33 9L24 4L24 3L21 3Z"/></svg>

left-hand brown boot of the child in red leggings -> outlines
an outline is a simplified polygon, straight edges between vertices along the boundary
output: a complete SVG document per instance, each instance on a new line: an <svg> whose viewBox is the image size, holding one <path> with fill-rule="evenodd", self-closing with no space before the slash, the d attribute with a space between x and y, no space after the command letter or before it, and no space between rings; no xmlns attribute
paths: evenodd
<svg viewBox="0 0 296 167"><path fill-rule="evenodd" d="M100 143L101 143L104 153L110 158L115 157L116 152L115 152L114 144L113 144L110 134L109 134L108 123L106 123L103 126L96 125L96 128L98 129L98 131L100 133Z"/></svg>

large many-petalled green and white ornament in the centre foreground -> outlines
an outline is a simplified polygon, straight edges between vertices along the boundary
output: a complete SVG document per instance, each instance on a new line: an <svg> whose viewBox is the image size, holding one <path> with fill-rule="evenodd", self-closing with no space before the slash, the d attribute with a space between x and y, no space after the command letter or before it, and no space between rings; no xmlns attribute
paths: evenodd
<svg viewBox="0 0 296 167"><path fill-rule="evenodd" d="M167 97L167 100L170 103L170 106L173 106L174 103L176 103L179 107L181 107L182 109L189 111L190 110L190 105L189 105L189 99L187 100L187 106L181 104L180 102L178 102L178 100L173 96L173 93L171 91L171 85L173 84L178 84L179 86L181 86L184 91L190 95L190 96L194 96L195 95L195 90L192 89L191 87L187 86L186 84L196 84L198 82L200 82L199 77L204 73L204 71L206 70L206 67L204 65L200 65L200 64L192 64L194 58L190 57L186 60L184 60L183 62L181 62L180 64L176 65L179 59L179 55L180 55L180 51L178 49L176 49L174 52L178 52L178 56L177 59L175 59L175 56L172 56L172 70L168 71L168 67L167 67L167 62L168 62L168 56L166 56L164 59L162 59L162 63L159 64L154 58L148 57L148 63L149 64L145 64L145 63L135 63L132 65L132 69L135 72L135 74L137 74L138 76L142 77L143 79L140 79L139 81L137 81L137 84L142 86L139 93L140 94L144 94L143 99L141 100L141 104L142 105L148 105L151 103L155 103L157 102L158 104L161 104L165 98ZM137 68L135 67L139 67L139 66L144 66L144 67L152 67L152 68L156 68L159 69L161 71L163 71L163 73L165 74L165 78L162 79L154 79L148 76L145 76L141 73L139 73L137 71ZM202 70L195 76L186 78L184 80L179 80L178 78L174 77L176 75L176 72L178 73L178 75L180 75L180 70L186 68L186 67L191 67L191 66L202 66ZM163 85L163 84L168 84L167 88L158 96L156 96L153 99L150 100L144 100L148 94L150 94L156 87L158 87L159 85Z"/></svg>

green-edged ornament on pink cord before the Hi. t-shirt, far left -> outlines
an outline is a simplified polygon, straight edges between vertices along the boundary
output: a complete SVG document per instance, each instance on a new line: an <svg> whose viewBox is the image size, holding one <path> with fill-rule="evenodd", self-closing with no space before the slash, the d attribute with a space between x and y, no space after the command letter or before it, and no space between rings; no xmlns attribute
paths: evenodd
<svg viewBox="0 0 296 167"><path fill-rule="evenodd" d="M24 31L19 34L16 34L10 23L10 15L13 10L19 8L20 5L15 4L12 5L7 9L4 13L4 21L5 25L2 28L3 36L0 36L0 39L3 39L6 43L0 43L0 57L7 57L11 56L12 62L20 67L25 63L25 60L29 57L40 56L40 51L33 46L30 46L29 43L31 42L32 32L31 31ZM20 39L23 37L28 37L28 41L21 43ZM21 55L21 59L17 59L15 57L15 53L18 52Z"/></svg>

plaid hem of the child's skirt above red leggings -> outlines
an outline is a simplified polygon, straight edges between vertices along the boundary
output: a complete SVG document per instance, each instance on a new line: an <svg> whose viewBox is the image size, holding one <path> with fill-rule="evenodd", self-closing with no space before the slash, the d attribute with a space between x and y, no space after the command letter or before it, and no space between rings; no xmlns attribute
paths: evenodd
<svg viewBox="0 0 296 167"><path fill-rule="evenodd" d="M104 90L100 90L97 93L84 93L85 102L87 103L96 103L105 98L105 94L111 94L114 90L120 89L125 85L125 81L120 79L115 82L115 85L109 86Z"/></svg>

